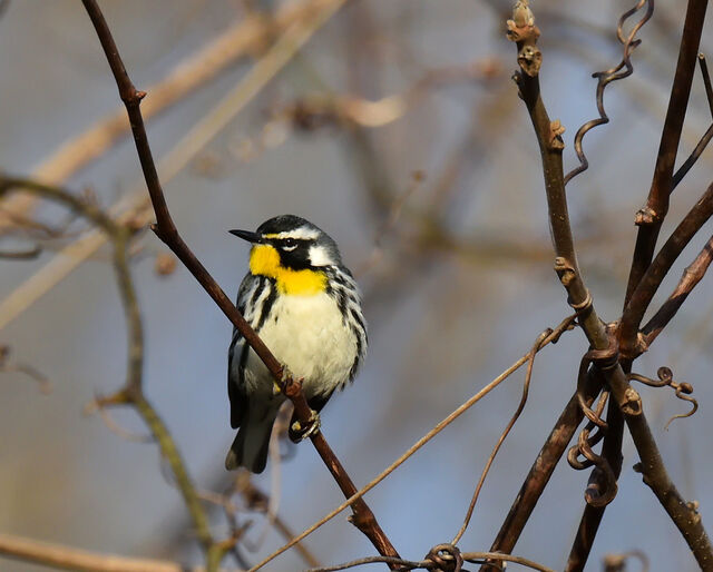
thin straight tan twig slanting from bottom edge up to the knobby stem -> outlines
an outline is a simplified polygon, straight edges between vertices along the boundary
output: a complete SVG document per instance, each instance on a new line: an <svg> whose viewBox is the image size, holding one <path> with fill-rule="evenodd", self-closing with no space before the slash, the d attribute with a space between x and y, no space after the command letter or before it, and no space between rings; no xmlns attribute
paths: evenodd
<svg viewBox="0 0 713 572"><path fill-rule="evenodd" d="M566 331L568 325L573 323L576 315L572 315L566 317L560 324L551 331L539 345L539 351L541 351L549 343L559 339L563 334L563 328ZM417 451L419 451L423 445L426 445L429 441L431 441L436 435L438 435L441 431L443 431L448 425L450 425L453 421L460 417L463 413L466 413L470 407L472 407L476 403L478 403L481 398L488 395L492 389L495 389L498 385L505 382L510 375L517 372L522 365L525 365L529 359L530 353L528 352L522 357L520 357L517 362L515 362L510 367L508 367L505 372L502 372L498 377L492 379L488 385L482 387L478 393L476 393L472 397L463 402L461 405L456 407L448 416L446 416L442 421L436 424L436 426L429 431L426 435L419 438L413 445L411 445L406 453L403 453L399 458L397 458L393 463L391 463L387 469L384 469L379 475L377 475L369 484L367 484L363 489L361 489L353 496L344 501L342 504L336 506L332 512L326 514L324 517L316 521L314 524L305 529L294 539L292 539L287 544L277 549L275 552L265 558L262 562L256 564L251 569L250 572L258 570L263 568L265 564L274 560L276 556L291 549L294 544L300 542L302 539L312 534L320 526L331 521L334 516L336 516L340 512L346 509L351 503L353 503L356 499L361 499L364 494L371 491L374 486L381 483L387 476L389 476L393 471L395 471L399 466L401 466L408 458L413 455ZM565 444L566 445L566 444Z"/></svg>

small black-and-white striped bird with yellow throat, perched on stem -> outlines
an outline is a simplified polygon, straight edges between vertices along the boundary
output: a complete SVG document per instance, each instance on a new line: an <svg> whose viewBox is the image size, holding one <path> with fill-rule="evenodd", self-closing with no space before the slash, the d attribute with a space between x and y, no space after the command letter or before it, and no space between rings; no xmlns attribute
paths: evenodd
<svg viewBox="0 0 713 572"><path fill-rule="evenodd" d="M364 361L367 322L356 282L334 239L299 216L281 215L256 231L229 233L252 244L237 309L293 378L302 381L307 404L319 414ZM237 328L228 349L227 392L231 426L238 431L225 467L262 473L285 396Z"/></svg>

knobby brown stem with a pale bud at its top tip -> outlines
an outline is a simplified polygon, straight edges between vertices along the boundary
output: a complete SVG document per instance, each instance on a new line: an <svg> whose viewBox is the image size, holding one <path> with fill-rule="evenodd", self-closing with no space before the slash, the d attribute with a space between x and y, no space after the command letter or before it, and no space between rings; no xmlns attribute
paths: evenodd
<svg viewBox="0 0 713 572"><path fill-rule="evenodd" d="M703 13L705 11L705 0L703 0ZM691 0L688 4L690 11L695 11L694 8L696 6L700 8L700 0ZM525 12L522 12L522 6L526 9ZM517 13L518 9L520 10L519 14ZM690 16L691 14L686 17L686 27L694 26L690 21ZM703 22L697 22L697 26L701 28ZM516 4L514 19L508 21L508 27L510 39L517 41L518 62L522 69L521 72L516 75L516 80L520 90L520 97L529 111L543 159L550 229L557 254L555 269L569 295L568 302L580 312L580 325L593 346L590 353L602 355L600 363L595 361L594 365L603 371L616 403L624 413L629 433L642 460L641 467L646 484L652 487L654 494L668 513L668 516L681 531L699 564L702 568L711 569L711 566L713 566L713 549L703 529L701 517L693 506L687 505L683 501L668 477L661 453L658 452L656 442L644 416L641 397L629 386L626 379L622 365L618 363L616 347L611 346L608 333L604 324L596 316L592 298L577 268L572 228L567 214L567 198L563 183L561 149L564 144L559 138L563 129L558 121L549 121L540 97L538 79L539 66L533 66L541 61L541 55L539 55L539 50L536 47L539 30L534 26L534 17L529 8L527 8L527 3L518 2ZM684 31L684 43L690 41L686 40L685 33ZM700 33L697 37L700 38ZM695 45L695 49L697 50L697 41ZM682 47L682 52L683 51L684 49ZM695 53L693 65L695 65ZM677 81L677 83L680 82L683 82L683 80ZM674 91L677 91L675 85ZM687 101L687 95L685 101ZM685 105L683 108L685 109ZM666 142L666 145L668 145L668 142ZM675 159L675 154L673 158ZM670 170L668 181L671 181L671 176L673 175L673 166ZM660 195L660 193L654 193L653 196L654 198L661 198ZM699 207L699 205L696 205L696 207ZM696 207L694 207L694 209ZM699 210L702 210L702 208L699 208ZM692 224L691 226L694 225ZM676 235L676 233L674 233L674 235ZM683 237L681 236L680 238ZM632 296L632 302L633 298L634 296ZM638 323L636 326L638 326Z"/></svg>

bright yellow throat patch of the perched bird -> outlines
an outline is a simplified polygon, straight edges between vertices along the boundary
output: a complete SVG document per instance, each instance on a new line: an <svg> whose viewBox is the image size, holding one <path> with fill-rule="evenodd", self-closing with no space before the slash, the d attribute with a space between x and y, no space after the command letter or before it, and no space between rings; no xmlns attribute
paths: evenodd
<svg viewBox="0 0 713 572"><path fill-rule="evenodd" d="M277 282L283 294L314 296L326 288L326 276L316 270L292 270L280 264L280 253L271 245L255 245L250 252L250 272Z"/></svg>

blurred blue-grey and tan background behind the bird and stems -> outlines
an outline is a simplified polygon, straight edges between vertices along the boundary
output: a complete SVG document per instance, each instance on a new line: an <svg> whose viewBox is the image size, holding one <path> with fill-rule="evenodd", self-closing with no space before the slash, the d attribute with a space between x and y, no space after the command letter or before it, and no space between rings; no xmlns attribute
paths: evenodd
<svg viewBox="0 0 713 572"><path fill-rule="evenodd" d="M551 270L536 139L510 80L516 50L505 38L508 2L125 0L101 7L131 79L149 92L147 129L174 219L223 288L234 296L247 268L247 246L227 230L285 213L330 233L354 270L369 356L322 422L358 486L570 312ZM145 226L150 216L135 209L145 196L136 151L80 2L6 1L2 8L0 169L84 193ZM596 117L592 73L621 60L616 21L628 8L611 0L538 0L533 7L543 32L545 101L567 128L566 168L577 164L572 140L578 126ZM605 93L612 122L585 138L590 168L568 186L579 263L607 320L622 309L634 213L651 184L684 11L682 0L657 2L639 33L634 75ZM707 30L712 23L709 18ZM712 40L704 33L709 53ZM293 55L297 41L304 46ZM281 59L284 66L275 65ZM149 106L156 108L146 111ZM114 124L106 119L113 115ZM710 122L696 71L678 164ZM90 129L96 139L81 147L78 138ZM711 152L704 154L680 186L662 237L710 184L712 165ZM0 531L201 562L156 445L116 434L145 435L141 421L128 408L106 412L108 420L86 412L126 375L110 249L96 239L87 246L86 224L57 206L13 196L0 209L3 252L41 247L30 259L0 260L0 344L9 352L0 375ZM41 227L31 223L38 220ZM684 252L652 309L710 233L709 224ZM146 394L196 486L222 493L235 476L223 467L233 438L225 387L232 326L150 231L131 252L146 331ZM655 376L668 365L694 386L699 412L668 431L666 421L688 404L666 388L642 393L673 480L685 499L700 501L711 530L709 278L635 371ZM495 461L462 550L490 548L572 395L586 349L574 332L539 354L529 401ZM518 372L367 496L404 558L422 558L460 526L517 406L522 376ZM619 494L588 569L599 570L605 554L639 550L652 570L695 570L674 525L632 471L637 460L625 436ZM588 474L559 464L514 553L564 566ZM342 500L306 444L252 483L271 495L294 533ZM256 563L285 539L260 511L243 510L240 495L233 502L241 507L238 523L252 521L241 554ZM215 535L227 536L221 509L212 507L211 516ZM304 544L324 564L374 553L345 514ZM225 564L238 565L229 558ZM293 550L267 570L307 565ZM2 559L0 569L41 570Z"/></svg>

